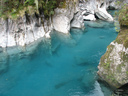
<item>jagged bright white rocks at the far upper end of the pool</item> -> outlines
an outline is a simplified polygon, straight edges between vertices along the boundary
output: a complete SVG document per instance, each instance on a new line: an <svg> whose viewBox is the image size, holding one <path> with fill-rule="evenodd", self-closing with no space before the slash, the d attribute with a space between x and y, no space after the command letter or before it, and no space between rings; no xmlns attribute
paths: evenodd
<svg viewBox="0 0 128 96"><path fill-rule="evenodd" d="M96 17L105 21L113 21L113 17L106 11L109 6L108 0L89 0L82 1L80 9L83 10L85 20L95 21Z"/></svg>

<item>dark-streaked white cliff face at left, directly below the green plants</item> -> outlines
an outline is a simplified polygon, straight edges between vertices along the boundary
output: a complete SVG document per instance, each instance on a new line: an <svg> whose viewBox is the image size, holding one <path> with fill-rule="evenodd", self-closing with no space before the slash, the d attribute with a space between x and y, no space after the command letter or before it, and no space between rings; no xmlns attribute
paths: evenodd
<svg viewBox="0 0 128 96"><path fill-rule="evenodd" d="M47 25L44 25L44 27ZM25 46L45 36L46 29L41 24L40 18L35 16L20 17L17 20L0 19L0 46ZM47 26L52 30L51 26Z"/></svg>

